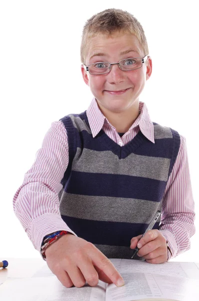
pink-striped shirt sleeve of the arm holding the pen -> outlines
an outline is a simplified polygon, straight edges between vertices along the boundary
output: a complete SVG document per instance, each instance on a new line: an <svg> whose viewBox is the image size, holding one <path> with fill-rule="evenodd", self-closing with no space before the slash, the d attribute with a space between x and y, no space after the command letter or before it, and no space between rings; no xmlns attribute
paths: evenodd
<svg viewBox="0 0 199 301"><path fill-rule="evenodd" d="M171 250L168 260L190 249L190 237L195 233L194 219L186 141L180 135L179 152L163 194L159 227Z"/></svg>

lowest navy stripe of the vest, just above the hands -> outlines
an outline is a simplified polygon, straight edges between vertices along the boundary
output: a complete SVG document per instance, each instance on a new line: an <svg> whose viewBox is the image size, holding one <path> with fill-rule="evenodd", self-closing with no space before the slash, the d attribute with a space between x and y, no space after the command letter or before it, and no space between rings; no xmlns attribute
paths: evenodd
<svg viewBox="0 0 199 301"><path fill-rule="evenodd" d="M130 239L143 234L148 226L147 224L85 220L65 215L61 215L61 218L78 237L93 244L130 247ZM158 222L155 223L153 229L159 229Z"/></svg>

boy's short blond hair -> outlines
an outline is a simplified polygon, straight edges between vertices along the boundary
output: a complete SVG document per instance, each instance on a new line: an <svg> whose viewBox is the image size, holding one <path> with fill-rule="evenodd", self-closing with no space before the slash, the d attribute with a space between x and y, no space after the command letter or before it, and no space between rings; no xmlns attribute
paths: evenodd
<svg viewBox="0 0 199 301"><path fill-rule="evenodd" d="M144 51L148 54L148 45L141 24L130 13L118 9L107 9L87 20L83 27L80 46L81 63L85 64L86 45L88 40L98 34L106 37L114 33L130 33L139 41Z"/></svg>

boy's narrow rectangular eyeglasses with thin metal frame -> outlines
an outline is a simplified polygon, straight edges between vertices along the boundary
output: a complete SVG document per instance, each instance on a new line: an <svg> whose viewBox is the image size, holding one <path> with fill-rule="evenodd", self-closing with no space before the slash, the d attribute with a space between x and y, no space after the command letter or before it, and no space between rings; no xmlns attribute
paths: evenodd
<svg viewBox="0 0 199 301"><path fill-rule="evenodd" d="M147 54L143 58L128 58L112 64L108 62L97 62L88 66L83 65L83 68L92 75L109 73L112 65L118 65L122 71L131 71L141 68L148 57L149 55Z"/></svg>

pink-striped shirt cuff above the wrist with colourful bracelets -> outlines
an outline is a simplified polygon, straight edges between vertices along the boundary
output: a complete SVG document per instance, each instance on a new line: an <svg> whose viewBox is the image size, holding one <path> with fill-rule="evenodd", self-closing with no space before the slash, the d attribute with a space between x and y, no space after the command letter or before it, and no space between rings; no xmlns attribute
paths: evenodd
<svg viewBox="0 0 199 301"><path fill-rule="evenodd" d="M62 220L60 215L49 213L37 217L32 221L30 229L30 240L36 250L40 252L44 236L64 230L77 236Z"/></svg>

